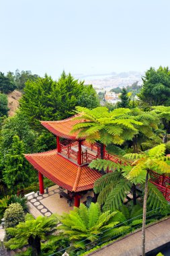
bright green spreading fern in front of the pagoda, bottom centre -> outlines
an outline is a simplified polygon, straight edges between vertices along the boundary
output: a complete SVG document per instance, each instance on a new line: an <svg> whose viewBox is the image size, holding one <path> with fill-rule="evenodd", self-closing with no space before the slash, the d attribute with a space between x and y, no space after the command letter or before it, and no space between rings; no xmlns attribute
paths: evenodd
<svg viewBox="0 0 170 256"><path fill-rule="evenodd" d="M88 247L89 243L96 245L99 241L104 243L108 238L118 237L130 228L121 224L125 220L122 213L101 213L98 203L91 203L89 208L81 203L79 208L74 207L69 214L58 218L61 222L58 230L68 236L75 248Z"/></svg>

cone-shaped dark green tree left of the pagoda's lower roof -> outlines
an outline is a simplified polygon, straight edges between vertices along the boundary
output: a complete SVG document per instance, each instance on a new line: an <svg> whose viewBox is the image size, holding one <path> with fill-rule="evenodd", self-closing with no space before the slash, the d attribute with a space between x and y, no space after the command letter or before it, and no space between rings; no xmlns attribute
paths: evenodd
<svg viewBox="0 0 170 256"><path fill-rule="evenodd" d="M11 191L24 189L30 185L32 168L24 158L24 143L18 136L13 137L11 149L8 150L4 158L3 181Z"/></svg>

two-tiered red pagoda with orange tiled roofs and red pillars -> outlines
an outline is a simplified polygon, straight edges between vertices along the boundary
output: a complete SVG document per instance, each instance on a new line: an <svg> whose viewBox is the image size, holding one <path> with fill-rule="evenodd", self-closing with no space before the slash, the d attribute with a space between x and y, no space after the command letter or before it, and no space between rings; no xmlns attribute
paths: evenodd
<svg viewBox="0 0 170 256"><path fill-rule="evenodd" d="M77 133L71 134L73 126L80 122L74 117L62 121L42 121L42 125L56 135L56 150L25 155L38 170L40 193L44 193L43 177L46 177L66 189L77 207L80 192L93 189L94 182L101 177L99 172L88 166L91 160L99 157L97 143L89 144L84 138L78 138Z"/></svg>

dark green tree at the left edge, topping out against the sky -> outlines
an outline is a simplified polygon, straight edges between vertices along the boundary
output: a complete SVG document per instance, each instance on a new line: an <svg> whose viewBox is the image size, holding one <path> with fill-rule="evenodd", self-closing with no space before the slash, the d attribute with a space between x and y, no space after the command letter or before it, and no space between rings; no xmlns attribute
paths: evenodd
<svg viewBox="0 0 170 256"><path fill-rule="evenodd" d="M15 82L13 79L9 77L9 75L5 75L4 73L0 72L0 92L1 94L7 94L8 92L13 92L15 90Z"/></svg>

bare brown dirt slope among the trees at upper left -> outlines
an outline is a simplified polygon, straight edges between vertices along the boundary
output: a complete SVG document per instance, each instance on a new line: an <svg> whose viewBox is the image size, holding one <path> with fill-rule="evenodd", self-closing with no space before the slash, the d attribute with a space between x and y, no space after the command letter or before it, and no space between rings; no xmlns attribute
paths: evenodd
<svg viewBox="0 0 170 256"><path fill-rule="evenodd" d="M15 111L17 110L19 106L19 98L22 97L22 92L19 92L17 90L10 92L7 95L8 99L8 107L9 107L9 112L8 115L9 117L12 117L15 114Z"/></svg>

